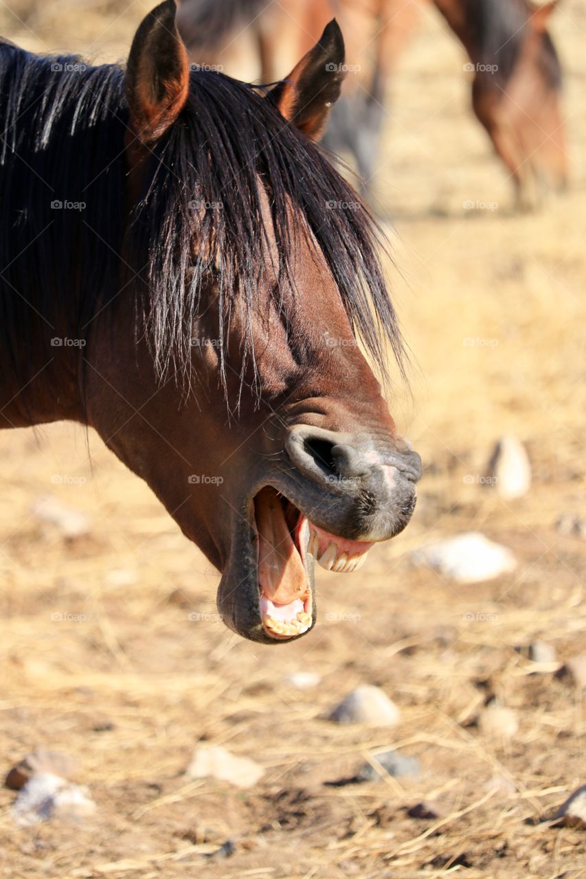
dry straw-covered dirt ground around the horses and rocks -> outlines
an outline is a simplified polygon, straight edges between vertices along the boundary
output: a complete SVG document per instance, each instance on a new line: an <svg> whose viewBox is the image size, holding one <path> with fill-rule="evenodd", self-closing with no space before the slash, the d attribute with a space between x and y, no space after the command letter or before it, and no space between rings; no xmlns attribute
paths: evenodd
<svg viewBox="0 0 586 879"><path fill-rule="evenodd" d="M0 31L110 60L146 8L7 0ZM404 534L359 573L319 570L311 636L275 650L231 636L217 572L96 435L0 436L0 771L55 748L78 759L98 804L79 824L23 829L1 789L3 877L586 876L584 832L534 823L586 782L583 692L516 650L545 640L561 663L586 649L586 541L556 529L566 513L586 519L585 0L561 4L553 33L572 187L538 214L511 213L468 111L461 49L431 12L401 63L377 194L396 218L390 272L415 364L392 411L426 470ZM479 481L506 432L533 468L512 502ZM41 523L33 505L47 496L84 512L89 534ZM461 586L410 563L467 530L513 550L516 572ZM296 689L299 671L321 682ZM360 683L392 697L398 726L326 720ZM516 711L511 738L479 723L493 697ZM253 757L263 779L242 791L187 778L201 739ZM390 748L416 756L421 776L325 783ZM409 817L422 801L436 818Z"/></svg>

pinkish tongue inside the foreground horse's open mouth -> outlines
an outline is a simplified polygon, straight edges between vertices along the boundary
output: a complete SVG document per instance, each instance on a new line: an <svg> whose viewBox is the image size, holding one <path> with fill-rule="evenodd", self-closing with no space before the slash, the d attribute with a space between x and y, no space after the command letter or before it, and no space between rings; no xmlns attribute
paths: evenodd
<svg viewBox="0 0 586 879"><path fill-rule="evenodd" d="M254 502L259 532L260 592L279 605L300 599L307 591L307 574L291 539L285 513L275 489L259 492Z"/></svg>

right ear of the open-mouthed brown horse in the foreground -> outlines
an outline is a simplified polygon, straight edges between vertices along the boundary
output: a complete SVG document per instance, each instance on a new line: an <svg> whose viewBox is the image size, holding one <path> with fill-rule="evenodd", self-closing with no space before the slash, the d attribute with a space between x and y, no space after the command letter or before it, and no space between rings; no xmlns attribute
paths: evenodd
<svg viewBox="0 0 586 879"><path fill-rule="evenodd" d="M270 93L282 116L314 141L324 133L330 108L340 97L344 58L344 39L333 18L319 42Z"/></svg>

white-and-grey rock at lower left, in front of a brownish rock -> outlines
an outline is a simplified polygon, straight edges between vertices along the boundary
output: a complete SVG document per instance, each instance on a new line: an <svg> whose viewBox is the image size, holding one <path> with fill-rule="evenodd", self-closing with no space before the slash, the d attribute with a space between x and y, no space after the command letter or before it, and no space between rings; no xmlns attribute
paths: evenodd
<svg viewBox="0 0 586 879"><path fill-rule="evenodd" d="M12 817L16 824L26 827L53 817L78 819L95 810L96 803L86 788L42 772L34 774L21 789L12 806Z"/></svg>

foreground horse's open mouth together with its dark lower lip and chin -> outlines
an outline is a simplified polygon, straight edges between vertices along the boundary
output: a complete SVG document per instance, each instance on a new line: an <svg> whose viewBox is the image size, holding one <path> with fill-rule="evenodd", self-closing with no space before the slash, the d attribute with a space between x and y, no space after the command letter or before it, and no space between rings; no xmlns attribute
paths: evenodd
<svg viewBox="0 0 586 879"><path fill-rule="evenodd" d="M306 635L316 623L315 562L350 572L371 546L327 533L273 486L263 487L247 505L223 571L217 598L223 621L260 643Z"/></svg>

